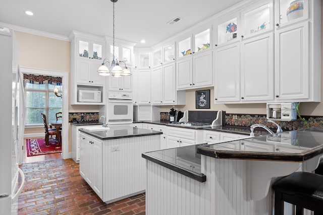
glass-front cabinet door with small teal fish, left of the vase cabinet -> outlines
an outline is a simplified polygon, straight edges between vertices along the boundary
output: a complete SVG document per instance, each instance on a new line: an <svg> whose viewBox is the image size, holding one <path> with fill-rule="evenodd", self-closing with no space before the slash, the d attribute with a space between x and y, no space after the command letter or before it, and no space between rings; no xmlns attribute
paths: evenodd
<svg viewBox="0 0 323 215"><path fill-rule="evenodd" d="M273 30L273 3L259 1L241 12L241 37L247 38Z"/></svg>

